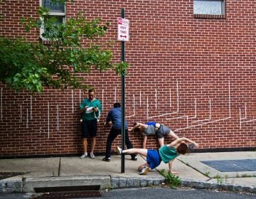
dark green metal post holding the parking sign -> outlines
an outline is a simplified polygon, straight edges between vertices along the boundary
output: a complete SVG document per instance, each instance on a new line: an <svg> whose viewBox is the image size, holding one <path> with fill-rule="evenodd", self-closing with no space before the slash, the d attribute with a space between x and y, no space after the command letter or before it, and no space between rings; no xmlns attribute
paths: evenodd
<svg viewBox="0 0 256 199"><path fill-rule="evenodd" d="M121 9L121 18L124 18L124 9ZM121 41L121 61L125 61L125 52L124 52L124 41ZM121 76L121 81L122 81L122 149L124 150L125 147L125 77L124 73L122 73ZM125 156L122 154L121 157L121 173L124 173L124 159Z"/></svg>

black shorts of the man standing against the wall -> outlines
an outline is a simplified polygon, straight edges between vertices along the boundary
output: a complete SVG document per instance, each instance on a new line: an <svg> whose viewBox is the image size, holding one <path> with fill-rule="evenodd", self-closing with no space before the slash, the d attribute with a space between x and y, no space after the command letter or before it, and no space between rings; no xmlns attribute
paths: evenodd
<svg viewBox="0 0 256 199"><path fill-rule="evenodd" d="M97 119L82 120L82 138L97 136Z"/></svg>

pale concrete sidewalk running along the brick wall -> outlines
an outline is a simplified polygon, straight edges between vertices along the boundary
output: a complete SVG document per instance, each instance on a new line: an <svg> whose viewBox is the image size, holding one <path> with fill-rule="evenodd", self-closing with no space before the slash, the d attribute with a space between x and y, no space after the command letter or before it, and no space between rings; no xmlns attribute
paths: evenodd
<svg viewBox="0 0 256 199"><path fill-rule="evenodd" d="M75 157L0 159L0 172L18 172L20 175L0 181L0 193L35 192L35 188L99 185L100 189L131 188L161 185L164 177L159 171L168 171L168 164L161 165L145 176L139 176L137 166L144 163L125 159L125 172L121 173L121 157L112 156L110 162ZM223 172L208 166L207 161L252 160L251 170ZM256 193L256 152L192 153L179 156L174 161L174 171L184 186ZM218 162L217 162L218 163ZM222 162L220 162L221 164ZM241 168L242 169L242 168ZM241 170L240 169L240 170Z"/></svg>

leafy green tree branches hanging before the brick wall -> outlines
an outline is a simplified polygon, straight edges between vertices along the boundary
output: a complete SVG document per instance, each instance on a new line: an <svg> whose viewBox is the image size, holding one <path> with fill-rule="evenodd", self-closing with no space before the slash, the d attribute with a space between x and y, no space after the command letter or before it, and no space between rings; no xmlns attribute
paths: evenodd
<svg viewBox="0 0 256 199"><path fill-rule="evenodd" d="M61 0L64 1L64 0ZM1 2L1 1L0 1ZM0 81L14 90L42 92L43 87L65 90L67 87L87 89L80 73L90 68L103 71L114 68L119 75L126 74L127 63L112 63L112 51L97 44L109 24L100 18L88 21L84 13L59 23L48 15L48 9L38 9L38 19L21 20L26 31L36 28L48 45L32 43L25 38L0 37ZM81 45L86 41L86 45Z"/></svg>

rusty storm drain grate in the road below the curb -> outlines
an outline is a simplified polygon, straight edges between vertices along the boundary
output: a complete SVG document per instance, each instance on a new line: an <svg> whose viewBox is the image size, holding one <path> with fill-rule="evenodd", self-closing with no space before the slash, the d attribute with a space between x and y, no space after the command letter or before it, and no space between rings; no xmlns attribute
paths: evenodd
<svg viewBox="0 0 256 199"><path fill-rule="evenodd" d="M99 198L101 197L99 190L84 190L84 191L67 191L67 192L52 192L42 193L41 195L32 195L31 199L66 199L66 198Z"/></svg>

